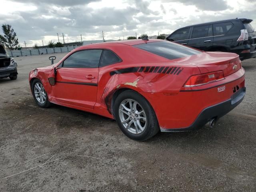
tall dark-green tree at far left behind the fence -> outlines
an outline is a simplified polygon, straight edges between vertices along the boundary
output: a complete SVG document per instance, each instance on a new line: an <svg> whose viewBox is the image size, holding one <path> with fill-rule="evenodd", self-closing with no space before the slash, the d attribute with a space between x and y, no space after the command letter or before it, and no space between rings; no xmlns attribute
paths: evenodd
<svg viewBox="0 0 256 192"><path fill-rule="evenodd" d="M12 26L8 24L2 25L2 30L4 35L0 35L0 43L4 44L10 50L14 50L14 48L18 48L18 38L16 38L16 32L14 32Z"/></svg>

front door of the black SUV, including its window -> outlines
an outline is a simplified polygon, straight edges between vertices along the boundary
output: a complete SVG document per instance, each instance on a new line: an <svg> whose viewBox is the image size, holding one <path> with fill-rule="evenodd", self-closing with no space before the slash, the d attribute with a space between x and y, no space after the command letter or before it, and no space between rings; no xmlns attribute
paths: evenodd
<svg viewBox="0 0 256 192"><path fill-rule="evenodd" d="M177 42L182 45L187 45L188 39L190 36L190 30L191 30L190 27L177 30L177 31L173 32L172 34L170 34L170 36L168 36L167 40L174 41L174 42Z"/></svg>

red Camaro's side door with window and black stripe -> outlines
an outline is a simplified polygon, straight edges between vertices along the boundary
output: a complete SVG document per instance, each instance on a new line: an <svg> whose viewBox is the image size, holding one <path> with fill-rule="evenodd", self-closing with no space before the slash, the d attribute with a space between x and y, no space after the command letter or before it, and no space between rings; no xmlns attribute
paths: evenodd
<svg viewBox="0 0 256 192"><path fill-rule="evenodd" d="M57 102L93 109L97 98L99 62L102 50L80 50L56 68L52 86Z"/></svg>

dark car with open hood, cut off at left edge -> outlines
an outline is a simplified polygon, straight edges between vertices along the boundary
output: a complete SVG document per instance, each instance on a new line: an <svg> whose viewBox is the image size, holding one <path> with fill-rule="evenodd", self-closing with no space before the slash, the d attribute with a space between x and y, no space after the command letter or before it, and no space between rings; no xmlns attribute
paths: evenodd
<svg viewBox="0 0 256 192"><path fill-rule="evenodd" d="M0 78L9 77L15 80L17 75L17 62L8 56L5 46L0 44Z"/></svg>

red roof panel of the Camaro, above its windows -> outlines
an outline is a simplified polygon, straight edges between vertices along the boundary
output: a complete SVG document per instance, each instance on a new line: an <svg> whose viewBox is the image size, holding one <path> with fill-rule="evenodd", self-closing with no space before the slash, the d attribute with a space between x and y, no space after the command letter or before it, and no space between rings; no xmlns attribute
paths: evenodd
<svg viewBox="0 0 256 192"><path fill-rule="evenodd" d="M111 41L111 42L102 42L102 43L94 43L89 45L80 46L80 49L83 48L100 48L100 47L106 47L106 46L113 46L114 44L124 44L128 46L133 46L137 44L143 44L143 43L151 43L151 42L158 42L158 41L165 41L161 39L149 39L149 40L142 40L142 39L133 39L133 40L122 40L122 41Z"/></svg>

